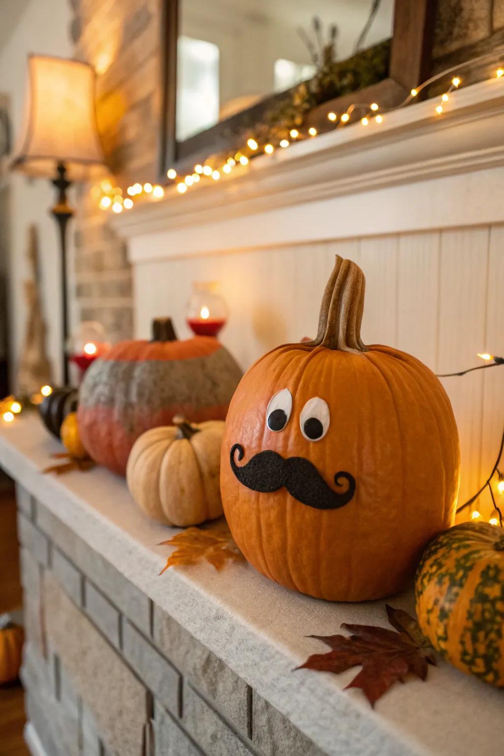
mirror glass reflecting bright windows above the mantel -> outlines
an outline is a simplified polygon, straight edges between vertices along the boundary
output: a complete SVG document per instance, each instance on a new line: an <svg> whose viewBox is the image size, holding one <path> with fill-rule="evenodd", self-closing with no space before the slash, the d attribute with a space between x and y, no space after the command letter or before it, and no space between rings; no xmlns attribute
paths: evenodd
<svg viewBox="0 0 504 756"><path fill-rule="evenodd" d="M354 52L373 0L179 0L176 138L184 141L315 72L298 33L318 16L323 40L338 26L337 57ZM366 47L392 34L394 0L382 0ZM313 36L313 32L310 32Z"/></svg>

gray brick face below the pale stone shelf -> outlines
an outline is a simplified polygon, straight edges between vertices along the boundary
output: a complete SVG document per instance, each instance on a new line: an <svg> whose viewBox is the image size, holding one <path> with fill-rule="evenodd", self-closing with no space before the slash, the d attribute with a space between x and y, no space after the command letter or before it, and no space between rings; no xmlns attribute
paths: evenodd
<svg viewBox="0 0 504 756"><path fill-rule="evenodd" d="M17 487L27 717L48 756L323 756Z"/></svg>

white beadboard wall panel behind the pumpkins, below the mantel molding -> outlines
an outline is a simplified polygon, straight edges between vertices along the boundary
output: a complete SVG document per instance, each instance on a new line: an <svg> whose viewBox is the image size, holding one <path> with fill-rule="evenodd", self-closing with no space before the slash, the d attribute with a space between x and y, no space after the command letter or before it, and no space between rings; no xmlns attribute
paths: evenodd
<svg viewBox="0 0 504 756"><path fill-rule="evenodd" d="M477 352L504 354L504 225L334 240L135 265L137 333L184 313L194 280L218 280L230 306L221 335L246 368L283 342L314 336L334 256L366 275L363 339L410 352L436 373L479 364ZM141 302L141 304L140 304ZM502 433L504 367L443 379L459 426L459 501L478 490L495 462ZM490 496L478 509L490 516Z"/></svg>

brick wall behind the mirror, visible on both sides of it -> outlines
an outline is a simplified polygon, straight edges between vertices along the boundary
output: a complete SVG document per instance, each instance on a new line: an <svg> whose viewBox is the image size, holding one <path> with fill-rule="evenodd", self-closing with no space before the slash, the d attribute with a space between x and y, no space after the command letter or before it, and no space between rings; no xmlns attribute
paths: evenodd
<svg viewBox="0 0 504 756"><path fill-rule="evenodd" d="M107 166L122 187L156 179L162 0L68 0L76 57L97 69L97 118ZM442 70L504 44L504 0L438 0L433 67ZM500 61L502 63L502 60ZM467 81L493 73L486 65ZM441 88L445 86L443 82ZM432 92L433 94L435 91ZM131 336L131 271L108 213L82 190L76 219L76 296L82 320L111 340Z"/></svg>

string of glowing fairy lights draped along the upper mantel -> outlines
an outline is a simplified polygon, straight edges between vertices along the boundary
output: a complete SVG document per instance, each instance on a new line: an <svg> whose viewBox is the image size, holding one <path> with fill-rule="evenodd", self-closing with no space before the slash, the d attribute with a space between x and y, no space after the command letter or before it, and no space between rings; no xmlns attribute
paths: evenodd
<svg viewBox="0 0 504 756"><path fill-rule="evenodd" d="M326 128L323 129L323 133L328 132L331 127L342 129L354 123L360 123L363 128L373 125L373 123L380 125L384 122L385 116L388 113L406 107L416 100L425 88L434 84L434 82L451 76L447 90L442 95L432 98L434 113L437 116L442 116L447 102L450 101L451 93L462 86L463 82L460 75L462 70L475 64L482 64L486 60L495 60L497 54L498 52L492 51L471 60L466 60L462 64L457 64L431 76L430 79L426 79L425 82L413 88L407 98L395 107L382 109L377 102L355 102L349 105L342 113L330 110L326 115L327 124ZM502 57L504 58L504 51L502 51ZM491 78L502 79L504 83L504 64L495 70ZM273 140L261 143L258 137L254 135L249 136L246 139L246 144L240 150L233 150L230 154L222 154L218 157L213 155L203 163L196 163L193 169L185 173L185 175L179 175L175 168L170 168L166 173L166 178L170 182L168 186L175 185L176 191L179 194L187 194L187 191L192 187L196 187L200 181L219 181L224 175L229 175L236 166L247 166L255 156L271 156L276 150L286 150L292 144L304 139L315 138L318 134L319 132L314 126L310 126L305 130L301 128L290 129L283 138L277 140L276 144ZM146 181L143 184L136 181L123 191L121 187L114 186L110 179L106 178L104 181L101 181L99 187L93 187L91 195L98 200L100 209L120 213L123 210L130 210L135 206L137 198L142 198L143 200L149 198L150 200L161 200L165 195L165 187L162 187L161 184L151 184L150 181Z"/></svg>

